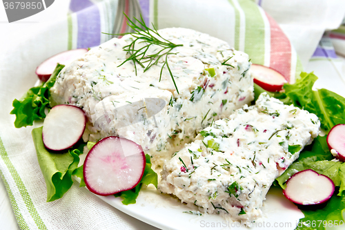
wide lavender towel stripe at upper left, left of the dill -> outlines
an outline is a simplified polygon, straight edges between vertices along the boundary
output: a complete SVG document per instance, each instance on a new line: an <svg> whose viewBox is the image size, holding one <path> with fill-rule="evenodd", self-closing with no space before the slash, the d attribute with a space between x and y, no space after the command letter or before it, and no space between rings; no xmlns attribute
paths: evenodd
<svg viewBox="0 0 345 230"><path fill-rule="evenodd" d="M98 7L89 0L71 0L70 10L77 14L77 48L101 44L101 16Z"/></svg>

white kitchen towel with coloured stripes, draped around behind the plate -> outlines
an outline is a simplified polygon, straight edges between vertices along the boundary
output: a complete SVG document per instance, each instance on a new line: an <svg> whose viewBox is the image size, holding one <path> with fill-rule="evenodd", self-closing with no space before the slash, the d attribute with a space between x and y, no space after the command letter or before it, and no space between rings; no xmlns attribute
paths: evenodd
<svg viewBox="0 0 345 230"><path fill-rule="evenodd" d="M39 30L7 44L2 50L5 55L0 57L0 76L11 76L0 77L0 172L21 229L147 227L76 184L63 198L46 202L46 183L32 143L32 127L14 128L15 117L10 115L13 99L37 81L34 70L41 61L63 50L97 46L113 37L106 33L130 32L122 12L129 17L142 15L158 29L191 28L228 41L247 52L253 63L276 69L289 82L302 70L288 37L254 1L70 0L64 7L65 3L55 1L49 9L60 10L66 17L51 23L42 19ZM26 23L16 26L24 29Z"/></svg>

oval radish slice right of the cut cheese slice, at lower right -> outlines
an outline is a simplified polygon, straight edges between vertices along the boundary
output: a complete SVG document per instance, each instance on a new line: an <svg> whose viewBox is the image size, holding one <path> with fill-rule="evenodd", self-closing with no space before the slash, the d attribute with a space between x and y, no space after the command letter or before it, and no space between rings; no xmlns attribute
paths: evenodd
<svg viewBox="0 0 345 230"><path fill-rule="evenodd" d="M322 204L332 197L334 189L333 181L326 175L306 169L288 179L283 194L295 204Z"/></svg>

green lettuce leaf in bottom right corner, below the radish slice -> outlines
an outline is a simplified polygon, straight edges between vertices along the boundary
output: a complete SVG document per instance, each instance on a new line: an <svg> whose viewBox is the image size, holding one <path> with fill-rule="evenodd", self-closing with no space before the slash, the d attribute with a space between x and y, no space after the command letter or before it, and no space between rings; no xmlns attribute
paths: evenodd
<svg viewBox="0 0 345 230"><path fill-rule="evenodd" d="M332 223L333 227L335 223L337 225L339 222L344 223L342 213L345 211L345 195L338 196L335 193L323 209L301 210L304 213L304 218L299 219L296 229L325 230L326 227L331 227L329 223Z"/></svg>

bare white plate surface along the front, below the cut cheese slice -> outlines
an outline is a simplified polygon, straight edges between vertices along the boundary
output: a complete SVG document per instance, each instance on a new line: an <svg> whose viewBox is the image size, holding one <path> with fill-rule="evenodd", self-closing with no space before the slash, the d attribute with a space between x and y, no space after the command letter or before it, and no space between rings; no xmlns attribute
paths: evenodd
<svg viewBox="0 0 345 230"><path fill-rule="evenodd" d="M232 222L216 214L185 213L197 211L197 209L190 209L186 204L181 204L177 198L162 194L153 186L141 189L136 204L124 205L121 203L122 198L115 198L114 195L97 195L97 197L112 207L159 229L231 228L248 230L246 222ZM250 229L295 229L299 219L304 217L302 211L284 197L282 189L277 188L271 188L268 191L262 211L264 217L252 223Z"/></svg>

